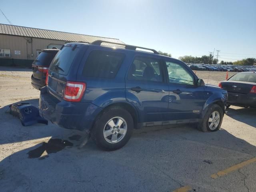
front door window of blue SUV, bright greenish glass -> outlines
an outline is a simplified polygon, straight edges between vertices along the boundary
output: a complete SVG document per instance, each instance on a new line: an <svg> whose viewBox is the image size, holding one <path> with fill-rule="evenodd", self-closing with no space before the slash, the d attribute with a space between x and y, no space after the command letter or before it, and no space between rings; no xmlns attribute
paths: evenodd
<svg viewBox="0 0 256 192"><path fill-rule="evenodd" d="M170 83L193 85L193 76L180 64L166 61Z"/></svg>

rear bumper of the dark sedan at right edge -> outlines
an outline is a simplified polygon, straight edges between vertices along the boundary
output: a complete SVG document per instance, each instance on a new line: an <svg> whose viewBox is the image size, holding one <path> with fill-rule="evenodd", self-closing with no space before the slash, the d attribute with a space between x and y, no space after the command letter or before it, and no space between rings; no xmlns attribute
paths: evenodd
<svg viewBox="0 0 256 192"><path fill-rule="evenodd" d="M256 94L239 94L228 92L228 105L256 107Z"/></svg>

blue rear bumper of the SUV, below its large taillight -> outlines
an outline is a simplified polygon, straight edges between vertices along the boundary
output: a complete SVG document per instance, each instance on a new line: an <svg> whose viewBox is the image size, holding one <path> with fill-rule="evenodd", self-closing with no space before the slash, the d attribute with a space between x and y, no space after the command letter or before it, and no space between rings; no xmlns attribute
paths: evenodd
<svg viewBox="0 0 256 192"><path fill-rule="evenodd" d="M39 113L58 126L89 132L102 108L91 103L59 101L43 88L39 98Z"/></svg>

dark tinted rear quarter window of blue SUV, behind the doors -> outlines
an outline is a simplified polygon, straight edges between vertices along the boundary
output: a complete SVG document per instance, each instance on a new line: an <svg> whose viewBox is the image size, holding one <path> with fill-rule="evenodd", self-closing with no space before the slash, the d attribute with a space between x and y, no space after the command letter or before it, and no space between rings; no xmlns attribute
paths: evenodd
<svg viewBox="0 0 256 192"><path fill-rule="evenodd" d="M114 78L124 60L123 53L94 50L88 56L83 76Z"/></svg>

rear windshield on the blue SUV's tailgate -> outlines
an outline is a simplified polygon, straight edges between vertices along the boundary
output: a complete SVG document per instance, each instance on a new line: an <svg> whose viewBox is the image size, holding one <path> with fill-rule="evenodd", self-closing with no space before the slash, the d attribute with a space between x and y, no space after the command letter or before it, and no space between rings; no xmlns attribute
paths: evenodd
<svg viewBox="0 0 256 192"><path fill-rule="evenodd" d="M78 50L78 47L75 49L71 46L63 47L52 60L50 70L58 74L67 75Z"/></svg>

